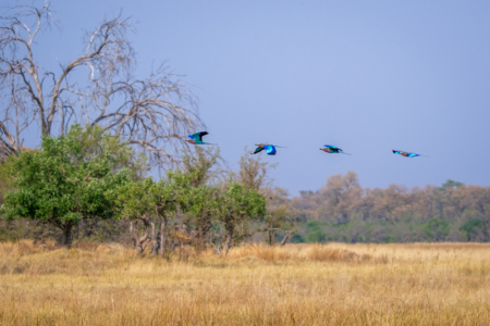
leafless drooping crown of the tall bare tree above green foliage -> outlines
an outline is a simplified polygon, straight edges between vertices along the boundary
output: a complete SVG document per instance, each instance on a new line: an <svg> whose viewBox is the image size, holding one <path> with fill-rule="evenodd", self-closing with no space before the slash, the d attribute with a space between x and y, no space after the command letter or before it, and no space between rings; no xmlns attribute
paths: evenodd
<svg viewBox="0 0 490 326"><path fill-rule="evenodd" d="M19 153L22 133L33 122L41 135L52 136L76 121L121 136L155 163L174 163L186 146L182 135L203 125L187 87L164 64L147 78L134 76L132 25L121 15L87 33L76 59L60 63L58 71L46 70L36 58L42 46L36 39L52 23L49 2L17 5L0 15L0 150Z"/></svg>

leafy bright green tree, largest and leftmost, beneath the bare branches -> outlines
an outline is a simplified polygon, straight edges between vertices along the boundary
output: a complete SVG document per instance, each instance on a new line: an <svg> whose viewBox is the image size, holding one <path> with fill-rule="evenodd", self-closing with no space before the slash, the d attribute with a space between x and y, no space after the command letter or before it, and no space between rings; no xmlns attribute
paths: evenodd
<svg viewBox="0 0 490 326"><path fill-rule="evenodd" d="M14 183L1 208L7 220L27 217L62 230L70 246L72 229L82 220L112 218L115 191L130 180L130 171L111 171L112 158L102 152L86 160L81 141L45 137L41 149L23 152L13 163Z"/></svg>

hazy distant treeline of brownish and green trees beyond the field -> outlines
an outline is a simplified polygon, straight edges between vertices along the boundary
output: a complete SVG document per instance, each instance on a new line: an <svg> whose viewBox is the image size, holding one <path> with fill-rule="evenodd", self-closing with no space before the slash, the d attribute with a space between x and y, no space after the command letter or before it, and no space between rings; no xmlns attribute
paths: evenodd
<svg viewBox="0 0 490 326"><path fill-rule="evenodd" d="M362 188L354 172L286 203L296 242L489 241L490 187Z"/></svg>

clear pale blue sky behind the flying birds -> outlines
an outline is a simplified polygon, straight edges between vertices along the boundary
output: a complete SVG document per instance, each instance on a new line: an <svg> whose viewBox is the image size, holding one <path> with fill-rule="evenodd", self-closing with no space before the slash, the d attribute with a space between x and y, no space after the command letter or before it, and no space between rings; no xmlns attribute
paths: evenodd
<svg viewBox="0 0 490 326"><path fill-rule="evenodd" d="M490 185L490 1L51 3L62 30L42 61L69 62L83 30L122 10L137 22L136 73L167 60L185 75L231 166L244 146L289 147L264 159L292 195L347 171L364 187Z"/></svg>

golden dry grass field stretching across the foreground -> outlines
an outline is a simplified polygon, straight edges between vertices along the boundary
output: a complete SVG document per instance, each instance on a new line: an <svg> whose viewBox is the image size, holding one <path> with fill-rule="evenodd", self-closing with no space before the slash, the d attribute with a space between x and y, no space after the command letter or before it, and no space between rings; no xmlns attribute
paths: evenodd
<svg viewBox="0 0 490 326"><path fill-rule="evenodd" d="M490 244L0 243L0 325L490 325Z"/></svg>

